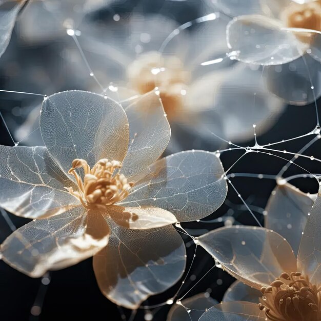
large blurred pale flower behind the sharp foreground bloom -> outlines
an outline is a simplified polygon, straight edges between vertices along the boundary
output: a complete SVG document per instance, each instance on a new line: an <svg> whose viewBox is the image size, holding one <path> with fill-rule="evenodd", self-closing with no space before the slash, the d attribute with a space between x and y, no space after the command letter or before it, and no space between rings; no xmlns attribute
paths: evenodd
<svg viewBox="0 0 321 321"><path fill-rule="evenodd" d="M183 5L183 4L182 4ZM97 77L112 75L115 88L145 94L155 87L168 116L168 151L216 150L263 133L283 111L281 99L265 88L262 71L230 61L220 14L205 14L179 26L160 14L132 14L120 21L80 26L79 43ZM202 65L209 60L210 66ZM218 63L219 62L219 63Z"/></svg>

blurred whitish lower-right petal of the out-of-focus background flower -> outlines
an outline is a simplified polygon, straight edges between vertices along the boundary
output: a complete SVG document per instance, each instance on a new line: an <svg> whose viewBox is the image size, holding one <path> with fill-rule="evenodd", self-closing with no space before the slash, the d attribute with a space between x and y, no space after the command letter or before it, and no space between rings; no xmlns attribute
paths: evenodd
<svg viewBox="0 0 321 321"><path fill-rule="evenodd" d="M206 125L199 126L205 137L208 132L213 132L238 142L253 137L253 124L260 133L268 130L285 107L281 99L267 90L262 71L253 70L245 64L236 64L200 77L190 86L186 99L188 113L199 112L202 115L207 111L205 114L208 116L204 118ZM186 118L191 117L187 115ZM223 133L215 126L217 120L222 123Z"/></svg>

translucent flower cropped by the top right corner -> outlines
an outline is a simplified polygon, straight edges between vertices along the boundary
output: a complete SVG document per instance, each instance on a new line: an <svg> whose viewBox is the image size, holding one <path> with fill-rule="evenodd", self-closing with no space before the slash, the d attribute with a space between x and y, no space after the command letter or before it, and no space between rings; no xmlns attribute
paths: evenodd
<svg viewBox="0 0 321 321"><path fill-rule="evenodd" d="M321 96L321 2L217 0L227 25L229 56L265 66L268 89L293 105Z"/></svg>

